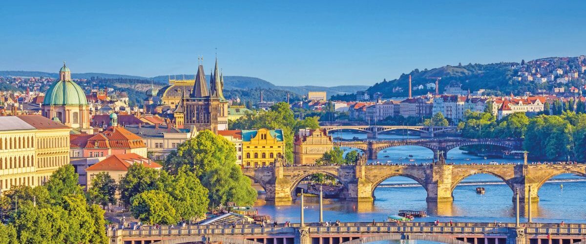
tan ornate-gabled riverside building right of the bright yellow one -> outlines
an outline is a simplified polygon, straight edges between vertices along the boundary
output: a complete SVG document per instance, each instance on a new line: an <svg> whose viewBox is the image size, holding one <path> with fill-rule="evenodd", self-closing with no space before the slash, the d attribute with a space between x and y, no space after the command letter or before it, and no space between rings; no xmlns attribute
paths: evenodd
<svg viewBox="0 0 586 244"><path fill-rule="evenodd" d="M295 164L314 164L333 148L332 137L325 130L301 129L293 142Z"/></svg>

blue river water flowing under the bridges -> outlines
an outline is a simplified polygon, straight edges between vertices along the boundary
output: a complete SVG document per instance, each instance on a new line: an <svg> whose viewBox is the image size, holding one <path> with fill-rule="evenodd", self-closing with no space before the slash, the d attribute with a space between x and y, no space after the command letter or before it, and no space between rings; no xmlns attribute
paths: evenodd
<svg viewBox="0 0 586 244"><path fill-rule="evenodd" d="M336 133L335 136L339 136ZM343 133L342 138L366 138L365 134ZM401 139L406 135L381 135L380 139ZM410 135L408 138L418 138ZM347 149L349 151L349 149ZM408 155L413 155L415 161L407 161ZM387 156L388 157L384 157ZM400 146L388 148L379 153L378 160L421 163L431 162L431 150L418 146ZM459 148L447 153L448 162L522 162L503 158L485 158L465 154ZM469 160L467 160L469 159ZM563 185L561 187L560 185ZM485 194L476 194L476 187L484 187ZM586 223L586 178L572 174L558 175L539 189L539 204L533 204L534 222L580 222ZM454 189L454 202L434 204L425 201L427 193L413 179L406 177L391 177L374 190L375 200L372 204L356 204L356 202L341 201L339 199L324 199L324 221L342 222L372 222L384 221L387 215L396 215L399 210L425 210L428 217L417 218L415 221L455 221L455 222L515 222L515 208L513 205L513 191L497 177L488 174L472 175L461 182ZM255 203L261 215L270 215L279 222L299 222L300 207L296 201L292 205L275 206L266 204L263 195ZM308 197L305 200L305 221L319 220L319 205L317 198ZM522 212L524 209L522 209ZM523 213L522 213L522 221Z"/></svg>

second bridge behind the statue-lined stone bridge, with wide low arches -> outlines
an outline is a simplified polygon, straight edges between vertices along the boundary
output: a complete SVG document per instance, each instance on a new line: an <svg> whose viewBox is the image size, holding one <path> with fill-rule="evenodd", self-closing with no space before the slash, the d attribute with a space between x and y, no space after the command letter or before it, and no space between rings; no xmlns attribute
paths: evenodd
<svg viewBox="0 0 586 244"><path fill-rule="evenodd" d="M509 148L510 150L521 150L523 140L520 138L505 138L505 139L467 139L467 138L445 138L445 139L407 139L407 140L367 140L367 141L341 141L335 143L340 147L357 148L364 152L369 159L376 159L380 151L389 147L397 147L400 145L418 145L420 147L429 148L434 152L435 160L438 159L438 153L443 157L449 150L463 145L498 145L500 147Z"/></svg>

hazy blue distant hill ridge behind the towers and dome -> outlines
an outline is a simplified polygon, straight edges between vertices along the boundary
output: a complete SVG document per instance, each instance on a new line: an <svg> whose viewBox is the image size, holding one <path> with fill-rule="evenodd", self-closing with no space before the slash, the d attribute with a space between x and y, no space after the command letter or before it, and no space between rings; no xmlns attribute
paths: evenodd
<svg viewBox="0 0 586 244"><path fill-rule="evenodd" d="M0 71L0 76L21 76L21 77L59 77L58 73L49 73L49 72L38 72L38 71ZM71 78L73 79L97 79L100 77L101 79L134 79L130 80L133 84L139 80L139 83L147 83L145 81L153 80L155 84L168 84L169 77L176 77L177 79L193 79L194 74L173 74L171 76L155 76L155 77L142 77L142 76L130 76L126 74L105 74L105 73L71 73ZM207 76L209 80L209 76ZM120 81L120 80L118 80ZM124 81L122 81L124 82ZM106 84L107 85L107 84ZM115 84L111 84L110 86L115 86ZM344 94L344 93L355 93L359 90L366 90L368 86L333 86L333 87L325 87L325 86L275 86L266 80L259 79L256 77L247 77L247 76L224 76L224 89L226 90L248 90L248 89L270 89L270 90L282 90L291 93L295 93L299 96L304 96L307 92L326 92L328 96L332 96L335 94ZM253 94L255 92L251 92ZM286 92L285 92L286 93Z"/></svg>

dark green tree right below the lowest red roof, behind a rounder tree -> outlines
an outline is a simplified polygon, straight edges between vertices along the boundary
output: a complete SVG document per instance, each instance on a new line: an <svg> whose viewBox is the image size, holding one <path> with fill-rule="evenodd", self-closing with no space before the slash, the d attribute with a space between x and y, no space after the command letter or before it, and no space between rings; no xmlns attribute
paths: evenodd
<svg viewBox="0 0 586 244"><path fill-rule="evenodd" d="M131 198L151 189L157 188L160 172L154 168L133 164L128 167L127 174L120 180L120 200L125 205L131 204Z"/></svg>

